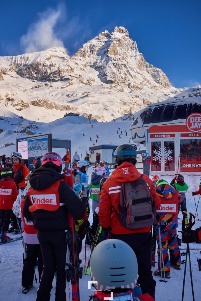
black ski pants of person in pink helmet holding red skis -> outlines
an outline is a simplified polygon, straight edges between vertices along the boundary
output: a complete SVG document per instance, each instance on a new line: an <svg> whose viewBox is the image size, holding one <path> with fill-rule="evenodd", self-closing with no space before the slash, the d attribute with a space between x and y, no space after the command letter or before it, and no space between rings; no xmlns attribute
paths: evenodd
<svg viewBox="0 0 201 301"><path fill-rule="evenodd" d="M37 291L36 301L49 301L52 281L57 272L55 301L66 301L66 232L39 231L38 240L43 258L43 271Z"/></svg>

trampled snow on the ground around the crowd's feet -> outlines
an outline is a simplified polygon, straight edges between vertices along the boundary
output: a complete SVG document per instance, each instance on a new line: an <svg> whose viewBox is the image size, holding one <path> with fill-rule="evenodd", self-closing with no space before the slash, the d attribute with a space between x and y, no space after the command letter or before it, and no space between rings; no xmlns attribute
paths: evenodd
<svg viewBox="0 0 201 301"><path fill-rule="evenodd" d="M91 177L91 173L93 169L89 169L89 177ZM196 196L196 203L198 202L199 196ZM91 213L92 213L92 202L90 203ZM195 203L194 198L190 193L187 194L187 208L188 211L191 211L195 214ZM92 214L90 213L89 221L92 223ZM198 206L198 216L201 219L201 201ZM182 214L179 213L179 220L178 220L178 230L181 230L181 221L182 221ZM196 218L196 224L194 225L193 229L198 228L201 226L201 221L198 221ZM18 235L11 234L11 237L16 237ZM181 238L181 233L179 233L179 237ZM0 285L0 296L1 300L6 301L32 301L36 298L36 292L38 288L38 283L33 282L33 288L27 294L22 294L22 287L21 287L21 273L23 268L22 263L22 256L23 256L23 245L22 240L18 240L12 242L10 244L5 244L0 246L0 270L1 270L1 285ZM90 248L87 247L86 252L86 265L90 256ZM180 247L181 252L186 252L186 244L181 244ZM198 270L198 263L196 258L201 258L200 251L201 244L190 244L190 256L191 256L191 267L192 267L192 274L193 274L193 286L194 286L194 294L195 300L200 300L200 291L201 291L201 282L200 276L201 272ZM84 255L85 255L85 244L83 240L83 249L80 254L80 259L82 259L82 265L84 266ZM156 253L157 255L157 253ZM157 256L156 256L157 259ZM182 256L182 260L185 259L185 256ZM157 268L157 263L155 268L152 268L154 271ZM37 268L36 268L36 275ZM184 276L184 264L181 265L181 271L171 269L171 278L168 279L168 282L160 282L160 277L154 276L156 280L156 293L155 299L156 301L181 301L182 296L182 285L183 285L183 276ZM83 278L80 279L80 300L87 301L90 295L93 295L93 290L88 289L88 280L90 279L90 275L83 275ZM50 300L55 300L55 278L53 280L53 288L51 290L51 298ZM71 295L70 295L71 296ZM192 293L191 293L191 283L190 283L190 270L189 270L189 263L187 264L187 271L186 271L186 284L185 284L185 293L184 293L184 300L191 301Z"/></svg>

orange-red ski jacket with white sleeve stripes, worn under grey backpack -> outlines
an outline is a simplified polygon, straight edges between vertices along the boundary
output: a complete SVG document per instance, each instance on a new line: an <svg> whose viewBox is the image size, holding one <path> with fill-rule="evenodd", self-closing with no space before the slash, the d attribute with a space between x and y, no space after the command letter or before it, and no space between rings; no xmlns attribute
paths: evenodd
<svg viewBox="0 0 201 301"><path fill-rule="evenodd" d="M140 177L140 172L137 171L136 167L129 163L124 162L118 166L111 177L105 181L101 189L101 197L99 206L99 219L100 224L103 228L111 226L111 232L113 234L129 234L135 232L149 232L151 227L140 228L140 229L128 229L121 225L118 216L115 213L119 213L119 199L121 192L121 183L133 182ZM159 209L161 201L159 196L156 194L155 186L151 179L147 175L142 176L142 179L146 182L150 188L153 200L155 202L156 210ZM115 208L115 210L112 207ZM112 211L112 212L111 212ZM111 216L110 216L111 213Z"/></svg>

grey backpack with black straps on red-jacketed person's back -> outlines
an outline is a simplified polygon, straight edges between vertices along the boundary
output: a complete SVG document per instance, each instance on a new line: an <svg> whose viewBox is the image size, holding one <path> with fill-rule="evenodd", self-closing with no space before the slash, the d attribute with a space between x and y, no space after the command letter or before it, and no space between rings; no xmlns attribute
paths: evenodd
<svg viewBox="0 0 201 301"><path fill-rule="evenodd" d="M116 210L115 210L116 212ZM155 203L142 175L134 182L122 183L119 202L119 215L122 226L139 229L151 226L155 219Z"/></svg>

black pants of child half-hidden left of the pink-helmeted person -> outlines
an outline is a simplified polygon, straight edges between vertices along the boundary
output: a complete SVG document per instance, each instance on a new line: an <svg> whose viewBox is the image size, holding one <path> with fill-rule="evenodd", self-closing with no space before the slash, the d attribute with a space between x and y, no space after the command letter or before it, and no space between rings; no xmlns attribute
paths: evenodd
<svg viewBox="0 0 201 301"><path fill-rule="evenodd" d="M38 275L39 281L43 270L42 253L39 244L26 244L27 257L23 254L23 270L22 270L22 286L28 287L33 284L34 267L36 265L36 258L38 258Z"/></svg>

